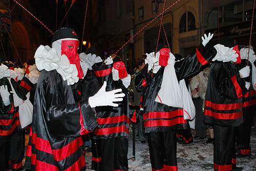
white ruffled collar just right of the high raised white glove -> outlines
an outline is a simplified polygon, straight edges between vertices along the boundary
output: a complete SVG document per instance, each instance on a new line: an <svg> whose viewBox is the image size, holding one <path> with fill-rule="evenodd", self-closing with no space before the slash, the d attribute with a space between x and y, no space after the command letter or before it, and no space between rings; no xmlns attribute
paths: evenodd
<svg viewBox="0 0 256 171"><path fill-rule="evenodd" d="M216 44L214 47L217 50L217 54L212 61L237 62L238 54L236 54L236 51L232 50L232 47L229 48L223 44Z"/></svg>

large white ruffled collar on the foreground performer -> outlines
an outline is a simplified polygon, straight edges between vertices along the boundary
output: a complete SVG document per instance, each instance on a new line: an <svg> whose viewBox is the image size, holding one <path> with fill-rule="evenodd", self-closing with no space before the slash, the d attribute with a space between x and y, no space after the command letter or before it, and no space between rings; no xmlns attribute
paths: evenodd
<svg viewBox="0 0 256 171"><path fill-rule="evenodd" d="M66 55L59 57L55 48L48 45L40 45L35 52L35 63L39 71L45 69L47 71L56 70L64 81L67 80L68 85L78 82L78 71L75 64L70 64Z"/></svg>

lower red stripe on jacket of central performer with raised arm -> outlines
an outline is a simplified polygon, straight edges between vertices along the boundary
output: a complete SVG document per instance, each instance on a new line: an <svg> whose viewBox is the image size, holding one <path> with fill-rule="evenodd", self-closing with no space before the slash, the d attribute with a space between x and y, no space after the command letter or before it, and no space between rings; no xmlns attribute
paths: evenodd
<svg viewBox="0 0 256 171"><path fill-rule="evenodd" d="M144 121L144 127L170 127L176 124L186 124L187 121L183 117L178 117L172 120L147 120Z"/></svg>

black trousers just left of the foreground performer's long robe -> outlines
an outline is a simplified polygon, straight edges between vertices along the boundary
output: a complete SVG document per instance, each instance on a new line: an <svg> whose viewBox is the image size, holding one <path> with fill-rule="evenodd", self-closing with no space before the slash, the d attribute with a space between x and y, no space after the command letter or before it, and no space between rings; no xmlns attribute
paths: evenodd
<svg viewBox="0 0 256 171"><path fill-rule="evenodd" d="M17 130L13 133L10 143L10 160L13 170L22 168L22 160L25 152L25 130Z"/></svg>

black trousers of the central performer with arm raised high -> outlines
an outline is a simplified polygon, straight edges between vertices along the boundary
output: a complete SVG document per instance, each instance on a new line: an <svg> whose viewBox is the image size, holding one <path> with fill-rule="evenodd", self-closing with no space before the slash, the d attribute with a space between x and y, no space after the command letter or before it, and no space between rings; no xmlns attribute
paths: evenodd
<svg viewBox="0 0 256 171"><path fill-rule="evenodd" d="M176 130L148 133L152 170L178 170Z"/></svg>

